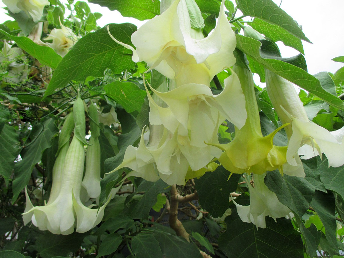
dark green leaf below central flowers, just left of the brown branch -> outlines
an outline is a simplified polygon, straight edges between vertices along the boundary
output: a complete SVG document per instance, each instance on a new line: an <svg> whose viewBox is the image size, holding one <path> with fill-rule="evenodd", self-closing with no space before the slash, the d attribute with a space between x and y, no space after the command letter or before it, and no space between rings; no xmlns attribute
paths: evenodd
<svg viewBox="0 0 344 258"><path fill-rule="evenodd" d="M133 200L130 205L127 204L124 213L133 219L145 219L149 216L150 209L157 203L157 195L166 192L169 185L159 179L157 182L143 181L136 192L145 191L140 200ZM129 197L129 196L128 196ZM126 202L128 201L128 197Z"/></svg>

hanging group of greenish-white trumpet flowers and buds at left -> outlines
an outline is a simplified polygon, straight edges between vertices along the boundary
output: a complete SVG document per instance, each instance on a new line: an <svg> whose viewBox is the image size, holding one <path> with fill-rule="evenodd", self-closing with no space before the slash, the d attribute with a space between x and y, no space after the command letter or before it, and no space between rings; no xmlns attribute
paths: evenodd
<svg viewBox="0 0 344 258"><path fill-rule="evenodd" d="M97 121L97 110L90 106L90 115ZM91 125L92 126L92 125ZM74 136L69 145L70 134L74 128ZM94 205L85 206L89 198L100 195L100 147L99 129L93 126L93 135L86 154L85 162L85 115L83 101L78 98L63 125L59 137L58 156L53 167L53 185L49 201L44 206L33 206L27 191L26 208L23 221L26 225L30 221L40 230L49 230L54 234L84 233L95 227L104 215L107 203L98 209ZM84 132L84 135L82 133ZM84 136L82 138L82 136Z"/></svg>

